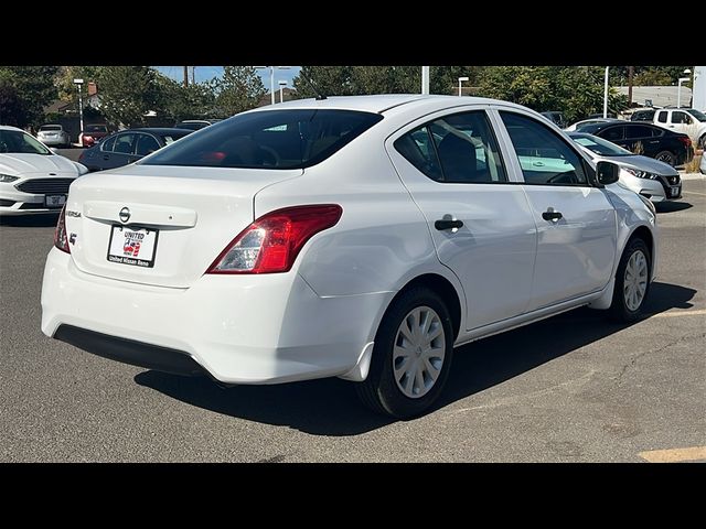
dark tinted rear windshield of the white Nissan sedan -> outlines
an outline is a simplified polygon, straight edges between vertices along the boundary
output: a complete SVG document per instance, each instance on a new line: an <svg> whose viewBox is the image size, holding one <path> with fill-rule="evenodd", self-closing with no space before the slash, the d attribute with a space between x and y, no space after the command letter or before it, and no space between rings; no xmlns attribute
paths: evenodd
<svg viewBox="0 0 706 529"><path fill-rule="evenodd" d="M268 110L212 125L146 160L146 165L302 169L383 119L353 110Z"/></svg>

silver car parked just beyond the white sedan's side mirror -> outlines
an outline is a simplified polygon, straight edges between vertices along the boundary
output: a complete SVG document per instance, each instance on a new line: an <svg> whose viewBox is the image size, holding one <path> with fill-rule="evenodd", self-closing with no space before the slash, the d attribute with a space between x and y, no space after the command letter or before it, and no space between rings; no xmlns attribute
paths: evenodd
<svg viewBox="0 0 706 529"><path fill-rule="evenodd" d="M682 197L682 179L668 163L633 154L627 149L586 132L569 132L569 137L593 160L609 160L620 166L620 182L652 202Z"/></svg>

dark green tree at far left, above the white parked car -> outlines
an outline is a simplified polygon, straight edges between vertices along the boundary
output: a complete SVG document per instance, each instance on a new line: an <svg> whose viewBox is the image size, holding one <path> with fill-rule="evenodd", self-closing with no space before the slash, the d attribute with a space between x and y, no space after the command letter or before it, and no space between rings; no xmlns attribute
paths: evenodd
<svg viewBox="0 0 706 529"><path fill-rule="evenodd" d="M15 111L19 127L39 127L44 120L44 107L56 99L54 77L57 66L4 66L0 79L14 88ZM6 88L6 94L10 91ZM6 96L9 97L9 96Z"/></svg>

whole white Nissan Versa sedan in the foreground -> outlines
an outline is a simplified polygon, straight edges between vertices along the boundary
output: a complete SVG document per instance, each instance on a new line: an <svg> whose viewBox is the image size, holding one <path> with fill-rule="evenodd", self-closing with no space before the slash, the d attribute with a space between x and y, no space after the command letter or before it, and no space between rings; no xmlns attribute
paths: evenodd
<svg viewBox="0 0 706 529"><path fill-rule="evenodd" d="M524 107L362 96L258 108L72 186L42 331L223 384L341 377L427 410L453 347L589 305L639 317L652 204Z"/></svg>

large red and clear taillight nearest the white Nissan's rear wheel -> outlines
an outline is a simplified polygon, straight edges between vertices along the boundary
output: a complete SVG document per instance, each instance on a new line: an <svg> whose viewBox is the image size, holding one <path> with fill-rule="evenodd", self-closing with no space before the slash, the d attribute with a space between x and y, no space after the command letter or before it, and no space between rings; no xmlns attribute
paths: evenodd
<svg viewBox="0 0 706 529"><path fill-rule="evenodd" d="M240 231L206 273L287 272L307 241L335 226L342 214L343 209L336 204L270 212Z"/></svg>

